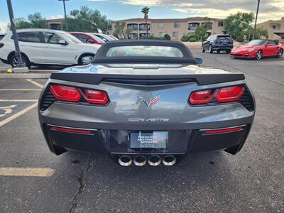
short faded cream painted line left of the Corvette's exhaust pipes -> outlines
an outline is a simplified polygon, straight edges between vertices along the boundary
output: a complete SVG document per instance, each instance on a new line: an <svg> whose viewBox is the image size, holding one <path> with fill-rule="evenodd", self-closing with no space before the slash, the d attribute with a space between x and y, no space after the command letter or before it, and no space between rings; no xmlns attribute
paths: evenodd
<svg viewBox="0 0 284 213"><path fill-rule="evenodd" d="M0 176L51 177L54 172L52 168L0 167Z"/></svg>

